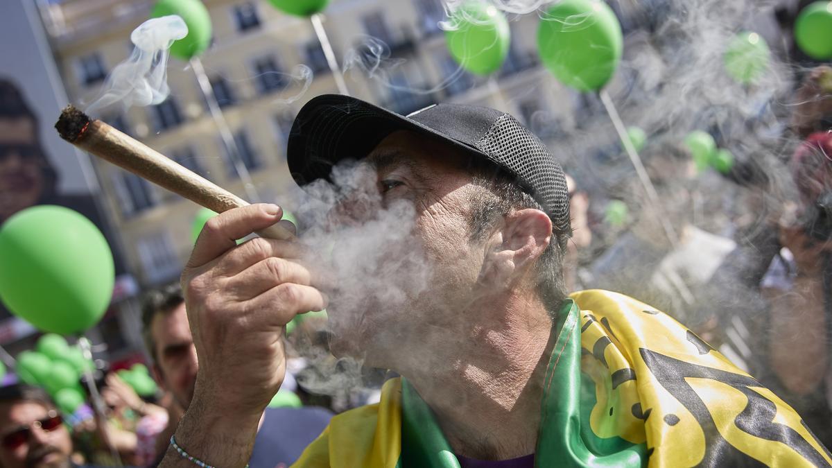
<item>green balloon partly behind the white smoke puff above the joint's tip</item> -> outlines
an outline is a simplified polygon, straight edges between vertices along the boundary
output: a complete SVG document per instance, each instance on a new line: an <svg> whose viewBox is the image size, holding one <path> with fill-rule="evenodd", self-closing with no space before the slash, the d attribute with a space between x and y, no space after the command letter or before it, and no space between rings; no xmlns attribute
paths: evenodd
<svg viewBox="0 0 832 468"><path fill-rule="evenodd" d="M153 7L151 17L178 15L188 27L188 35L171 45L171 55L182 60L205 52L212 34L208 9L200 0L160 0Z"/></svg>

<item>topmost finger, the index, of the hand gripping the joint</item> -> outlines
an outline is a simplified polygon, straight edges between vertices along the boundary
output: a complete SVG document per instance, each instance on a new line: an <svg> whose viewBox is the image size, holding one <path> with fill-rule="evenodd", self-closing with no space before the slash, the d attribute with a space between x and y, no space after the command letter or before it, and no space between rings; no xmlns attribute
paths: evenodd
<svg viewBox="0 0 832 468"><path fill-rule="evenodd" d="M280 221L283 210L277 205L258 203L234 208L212 217L202 228L191 252L187 267L195 268L220 256L250 233L270 227Z"/></svg>

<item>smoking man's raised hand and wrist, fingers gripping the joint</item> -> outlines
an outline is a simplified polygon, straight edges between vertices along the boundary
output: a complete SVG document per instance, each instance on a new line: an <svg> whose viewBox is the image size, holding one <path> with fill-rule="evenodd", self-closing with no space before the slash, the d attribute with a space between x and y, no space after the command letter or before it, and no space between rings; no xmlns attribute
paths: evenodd
<svg viewBox="0 0 832 468"><path fill-rule="evenodd" d="M285 376L285 325L326 306L299 243L258 237L236 245L281 216L280 207L257 204L211 218L182 272L200 365L176 440L208 449L201 456L218 466L248 461L260 416Z"/></svg>

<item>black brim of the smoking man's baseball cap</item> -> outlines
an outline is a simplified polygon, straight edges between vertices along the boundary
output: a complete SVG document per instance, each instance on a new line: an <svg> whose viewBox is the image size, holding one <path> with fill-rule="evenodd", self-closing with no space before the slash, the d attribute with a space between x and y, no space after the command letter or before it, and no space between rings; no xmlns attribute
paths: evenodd
<svg viewBox="0 0 832 468"><path fill-rule="evenodd" d="M475 147L395 112L355 97L324 94L307 102L295 117L286 148L289 170L300 186L328 179L338 162L366 157L385 137L399 130L436 137L464 152L488 158Z"/></svg>

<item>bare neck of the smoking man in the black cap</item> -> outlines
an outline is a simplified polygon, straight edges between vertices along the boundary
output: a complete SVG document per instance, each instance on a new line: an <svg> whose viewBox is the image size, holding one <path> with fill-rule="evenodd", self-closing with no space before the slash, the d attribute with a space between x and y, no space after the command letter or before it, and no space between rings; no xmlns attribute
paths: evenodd
<svg viewBox="0 0 832 468"><path fill-rule="evenodd" d="M552 322L539 303L506 302L494 315L476 311L493 323L472 323L449 356L405 374L460 456L508 460L535 451Z"/></svg>

